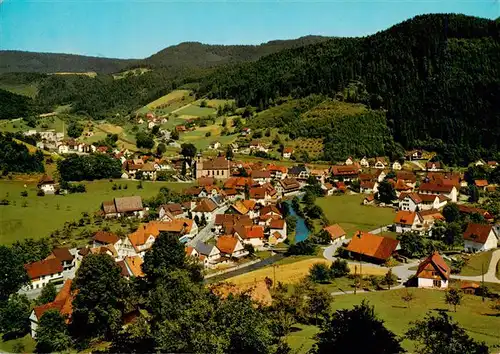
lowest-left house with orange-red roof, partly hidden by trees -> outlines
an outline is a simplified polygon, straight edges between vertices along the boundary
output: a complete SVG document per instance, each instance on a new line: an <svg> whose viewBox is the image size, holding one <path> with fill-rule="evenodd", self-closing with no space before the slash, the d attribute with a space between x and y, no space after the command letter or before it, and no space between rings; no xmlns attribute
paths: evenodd
<svg viewBox="0 0 500 354"><path fill-rule="evenodd" d="M73 314L72 303L74 299L74 294L71 292L71 284L71 279L66 280L61 290L57 293L54 301L33 308L29 317L31 337L36 338L38 323L43 314L49 310L58 311L63 316L66 323L71 322L71 315Z"/></svg>

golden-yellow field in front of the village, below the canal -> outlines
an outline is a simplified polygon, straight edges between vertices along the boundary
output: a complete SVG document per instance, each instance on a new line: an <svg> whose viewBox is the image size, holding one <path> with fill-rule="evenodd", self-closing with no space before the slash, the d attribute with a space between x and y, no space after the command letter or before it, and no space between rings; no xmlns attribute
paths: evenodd
<svg viewBox="0 0 500 354"><path fill-rule="evenodd" d="M276 282L282 282L284 284L297 283L309 274L309 269L315 263L325 263L329 265L331 262L327 261L324 258L310 257L310 256L308 258L307 256L287 257L284 258L281 262L276 262L272 266L258 269L246 274L241 274L236 277L229 278L226 281L240 285L240 284L250 284L256 281L261 281L264 280L266 277L269 277L271 279L274 279ZM354 269L352 269L351 271L354 272ZM383 275L385 274L385 272L379 268L364 266L363 274ZM274 277L275 275L276 278ZM328 285L329 286L331 285L332 289L336 288L337 285L340 286L340 284L333 284L333 283Z"/></svg>

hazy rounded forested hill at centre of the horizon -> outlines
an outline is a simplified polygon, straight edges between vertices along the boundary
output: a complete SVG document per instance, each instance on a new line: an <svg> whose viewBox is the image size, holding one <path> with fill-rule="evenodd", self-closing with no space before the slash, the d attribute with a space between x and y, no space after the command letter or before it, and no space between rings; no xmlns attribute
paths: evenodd
<svg viewBox="0 0 500 354"><path fill-rule="evenodd" d="M260 45L209 45L185 42L167 47L141 60L137 66L203 68L257 60L283 49L297 48L324 42L328 37L306 36L290 40L276 40Z"/></svg>

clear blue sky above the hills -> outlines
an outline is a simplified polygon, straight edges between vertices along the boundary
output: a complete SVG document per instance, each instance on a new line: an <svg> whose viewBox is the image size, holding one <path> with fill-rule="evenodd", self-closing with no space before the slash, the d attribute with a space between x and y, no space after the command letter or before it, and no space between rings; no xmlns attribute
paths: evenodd
<svg viewBox="0 0 500 354"><path fill-rule="evenodd" d="M145 58L186 41L364 36L424 13L500 16L500 0L0 0L0 49Z"/></svg>

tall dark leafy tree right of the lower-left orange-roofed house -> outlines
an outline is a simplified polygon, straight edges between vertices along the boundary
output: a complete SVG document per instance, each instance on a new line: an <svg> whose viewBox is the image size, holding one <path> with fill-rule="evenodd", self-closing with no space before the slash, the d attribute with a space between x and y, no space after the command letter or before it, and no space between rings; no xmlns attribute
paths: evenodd
<svg viewBox="0 0 500 354"><path fill-rule="evenodd" d="M85 341L110 338L121 328L126 287L121 269L107 254L85 256L73 283L72 334Z"/></svg>

